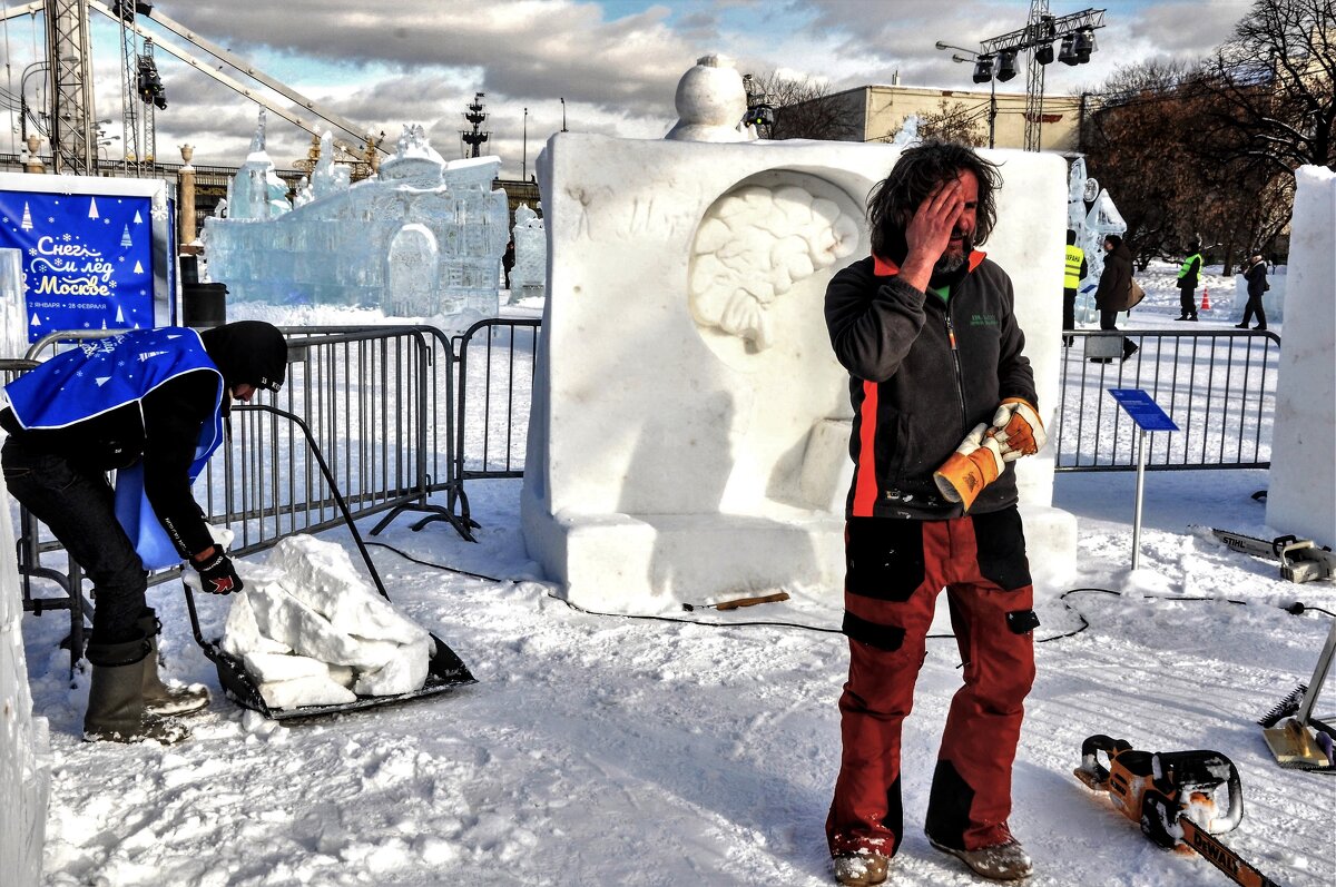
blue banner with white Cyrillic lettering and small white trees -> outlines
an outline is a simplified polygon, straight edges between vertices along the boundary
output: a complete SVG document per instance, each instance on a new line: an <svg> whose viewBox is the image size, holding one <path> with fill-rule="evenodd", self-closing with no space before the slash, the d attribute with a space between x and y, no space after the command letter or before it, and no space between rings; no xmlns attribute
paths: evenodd
<svg viewBox="0 0 1336 887"><path fill-rule="evenodd" d="M0 191L0 247L23 251L28 342L154 326L147 196Z"/></svg>

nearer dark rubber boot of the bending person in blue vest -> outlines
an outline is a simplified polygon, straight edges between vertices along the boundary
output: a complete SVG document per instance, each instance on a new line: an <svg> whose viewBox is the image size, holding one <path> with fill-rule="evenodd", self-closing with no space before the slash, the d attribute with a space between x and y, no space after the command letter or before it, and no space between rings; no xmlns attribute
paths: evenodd
<svg viewBox="0 0 1336 887"><path fill-rule="evenodd" d="M88 644L92 687L84 713L87 741L140 743L163 745L190 737L190 731L174 720L144 712L144 657L148 637L123 644Z"/></svg>

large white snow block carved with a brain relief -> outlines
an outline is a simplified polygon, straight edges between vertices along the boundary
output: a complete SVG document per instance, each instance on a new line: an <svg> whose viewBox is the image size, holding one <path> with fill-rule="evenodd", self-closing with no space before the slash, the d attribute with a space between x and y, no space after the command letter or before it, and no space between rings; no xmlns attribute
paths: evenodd
<svg viewBox="0 0 1336 887"><path fill-rule="evenodd" d="M867 255L860 206L898 154L548 142L552 252L521 514L530 557L570 600L647 612L839 593L852 415L823 297L842 263ZM985 155L1006 178L989 255L1025 293L1061 293L1065 162ZM772 275L788 289L772 295ZM1049 421L1062 301L1017 298L1017 311ZM1075 521L1051 508L1051 454L1017 470L1042 594L1066 581L1045 585L1045 570L1073 562Z"/></svg>

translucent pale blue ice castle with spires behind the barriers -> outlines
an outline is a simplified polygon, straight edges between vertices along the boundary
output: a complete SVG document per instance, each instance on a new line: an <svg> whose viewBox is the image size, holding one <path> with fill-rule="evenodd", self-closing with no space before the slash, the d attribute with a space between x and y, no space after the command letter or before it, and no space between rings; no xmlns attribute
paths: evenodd
<svg viewBox="0 0 1336 887"><path fill-rule="evenodd" d="M326 134L310 186L279 212L261 123L227 218L204 220L210 279L236 301L378 307L461 329L494 317L509 219L505 191L492 190L501 159L446 162L421 126L405 126L395 155L357 184L333 154Z"/></svg>

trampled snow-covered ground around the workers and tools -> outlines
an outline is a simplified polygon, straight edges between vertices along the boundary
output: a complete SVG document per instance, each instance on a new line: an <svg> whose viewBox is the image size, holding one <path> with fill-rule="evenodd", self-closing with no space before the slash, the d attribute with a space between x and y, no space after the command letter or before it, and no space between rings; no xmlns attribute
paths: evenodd
<svg viewBox="0 0 1336 887"><path fill-rule="evenodd" d="M1218 271L1218 269L1216 269ZM1173 269L1137 275L1132 327L1177 317ZM1206 287L1232 293L1229 278ZM1200 293L1198 293L1200 294ZM1228 305L1221 299L1221 306ZM1236 323L1226 311L1202 323ZM1205 319L1208 318L1209 319ZM232 318L236 319L236 318ZM274 318L346 323L347 315ZM1038 680L1011 824L1043 886L1221 884L1161 851L1073 776L1082 740L1213 749L1242 777L1222 840L1289 887L1336 882L1336 777L1279 768L1255 720L1308 680L1331 582L1292 585L1200 526L1271 537L1265 472L1146 478L1141 568L1129 569L1134 474L1061 474L1055 505L1081 542L1067 588L1039 589ZM35 708L51 719L51 884L784 884L831 883L823 823L839 761L847 663L840 594L657 618L576 612L536 576L518 481L470 484L478 542L399 518L373 546L390 597L445 639L478 684L415 703L282 725L243 713L190 637L179 586L151 589L167 675L215 688L174 748L79 740L86 675L67 681L60 613L24 620ZM363 526L363 532L369 528ZM322 538L346 544L346 530ZM418 562L421 561L421 562ZM480 580L429 564L480 573ZM1197 600L1181 600L1197 598ZM202 601L206 635L226 602ZM1081 627L1089 628L1070 636ZM959 659L930 641L906 724L906 844L891 884L969 884L919 828ZM1333 688L1332 692L1336 692ZM1319 704L1319 713L1329 712Z"/></svg>

